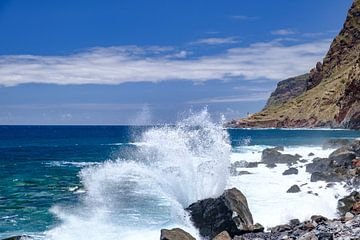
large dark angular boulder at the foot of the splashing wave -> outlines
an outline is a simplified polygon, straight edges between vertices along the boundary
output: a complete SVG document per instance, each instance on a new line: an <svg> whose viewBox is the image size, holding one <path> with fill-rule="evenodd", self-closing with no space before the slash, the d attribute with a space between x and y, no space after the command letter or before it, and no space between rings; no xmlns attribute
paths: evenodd
<svg viewBox="0 0 360 240"><path fill-rule="evenodd" d="M222 231L234 237L254 230L246 197L236 188L193 203L186 210L203 237L213 238Z"/></svg>

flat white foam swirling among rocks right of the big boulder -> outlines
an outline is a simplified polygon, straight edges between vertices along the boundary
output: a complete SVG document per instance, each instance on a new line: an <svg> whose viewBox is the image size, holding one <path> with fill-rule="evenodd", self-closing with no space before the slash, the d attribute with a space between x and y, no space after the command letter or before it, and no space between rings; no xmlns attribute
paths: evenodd
<svg viewBox="0 0 360 240"><path fill-rule="evenodd" d="M259 162L261 150L265 146L245 146L242 151L233 154L232 161L247 160ZM318 146L302 146L285 148L283 153L300 154L303 159L311 161L315 157L328 157L333 149L322 149ZM314 156L308 157L309 153ZM254 221L266 227L284 224L290 219L305 220L312 215L320 214L329 218L336 217L336 197L346 194L341 184L326 188L323 181L310 182L310 174L305 171L306 163L294 165L299 170L297 175L282 175L289 167L277 164L275 168L267 168L260 164L257 168L239 168L251 174L231 177L229 187L239 188L247 197ZM307 183L304 186L302 184ZM299 193L287 193L294 184L301 186ZM313 194L309 194L312 191ZM318 194L318 196L314 194Z"/></svg>

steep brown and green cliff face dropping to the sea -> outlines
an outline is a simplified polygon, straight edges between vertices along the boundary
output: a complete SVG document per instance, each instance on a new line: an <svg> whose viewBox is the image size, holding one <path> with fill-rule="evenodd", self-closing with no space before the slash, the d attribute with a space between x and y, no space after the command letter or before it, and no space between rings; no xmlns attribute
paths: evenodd
<svg viewBox="0 0 360 240"><path fill-rule="evenodd" d="M360 129L360 0L354 0L323 63L279 82L261 112L229 125Z"/></svg>

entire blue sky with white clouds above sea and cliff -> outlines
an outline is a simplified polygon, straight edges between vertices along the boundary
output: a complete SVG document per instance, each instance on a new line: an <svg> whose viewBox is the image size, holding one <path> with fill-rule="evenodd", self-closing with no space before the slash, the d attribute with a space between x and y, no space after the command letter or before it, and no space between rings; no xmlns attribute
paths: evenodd
<svg viewBox="0 0 360 240"><path fill-rule="evenodd" d="M1 0L0 124L236 119L308 72L351 0Z"/></svg>

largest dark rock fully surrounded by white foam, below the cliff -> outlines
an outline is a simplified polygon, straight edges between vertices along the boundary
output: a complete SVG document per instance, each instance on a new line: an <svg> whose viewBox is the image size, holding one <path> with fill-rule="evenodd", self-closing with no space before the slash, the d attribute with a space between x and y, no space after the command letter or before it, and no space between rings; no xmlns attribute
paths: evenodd
<svg viewBox="0 0 360 240"><path fill-rule="evenodd" d="M295 164L299 159L299 156L282 154L275 148L266 148L262 151L261 154L261 161L266 164L285 163L292 165Z"/></svg>

